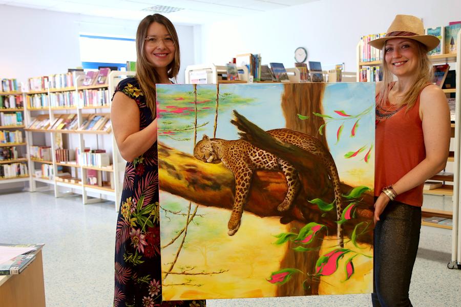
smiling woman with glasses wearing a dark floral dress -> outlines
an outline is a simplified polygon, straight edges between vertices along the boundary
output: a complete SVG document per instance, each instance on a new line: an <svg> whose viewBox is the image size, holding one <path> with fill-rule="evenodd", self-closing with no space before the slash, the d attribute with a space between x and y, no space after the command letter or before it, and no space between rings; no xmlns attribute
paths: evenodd
<svg viewBox="0 0 461 307"><path fill-rule="evenodd" d="M128 161L115 238L114 306L203 306L161 296L156 83L179 71L179 43L169 19L154 14L136 33L136 76L117 85L111 120L121 156Z"/></svg>

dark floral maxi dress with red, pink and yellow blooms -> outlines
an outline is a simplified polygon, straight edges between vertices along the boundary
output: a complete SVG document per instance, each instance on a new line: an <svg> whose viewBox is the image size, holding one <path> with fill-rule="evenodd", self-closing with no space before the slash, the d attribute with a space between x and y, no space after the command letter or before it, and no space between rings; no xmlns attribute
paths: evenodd
<svg viewBox="0 0 461 307"><path fill-rule="evenodd" d="M152 112L135 78L117 85L136 101L139 126L152 122ZM204 306L205 301L163 301L161 296L160 223L157 142L128 162L123 179L115 237L114 306Z"/></svg>

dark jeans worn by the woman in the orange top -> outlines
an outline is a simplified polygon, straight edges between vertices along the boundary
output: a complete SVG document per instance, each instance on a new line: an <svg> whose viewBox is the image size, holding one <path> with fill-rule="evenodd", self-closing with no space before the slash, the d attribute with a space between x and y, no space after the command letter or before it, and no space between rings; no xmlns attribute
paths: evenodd
<svg viewBox="0 0 461 307"><path fill-rule="evenodd" d="M418 251L421 208L389 202L374 228L373 307L412 306L408 298Z"/></svg>

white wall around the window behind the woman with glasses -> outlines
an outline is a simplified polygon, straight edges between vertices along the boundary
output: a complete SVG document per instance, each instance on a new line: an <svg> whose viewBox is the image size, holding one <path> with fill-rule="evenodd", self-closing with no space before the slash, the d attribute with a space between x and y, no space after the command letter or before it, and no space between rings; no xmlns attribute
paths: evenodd
<svg viewBox="0 0 461 307"><path fill-rule="evenodd" d="M2 31L0 78L27 78L65 73L81 66L79 32L135 37L139 21L59 13L0 5ZM191 26L175 25L181 47L181 71L194 62L194 32Z"/></svg>

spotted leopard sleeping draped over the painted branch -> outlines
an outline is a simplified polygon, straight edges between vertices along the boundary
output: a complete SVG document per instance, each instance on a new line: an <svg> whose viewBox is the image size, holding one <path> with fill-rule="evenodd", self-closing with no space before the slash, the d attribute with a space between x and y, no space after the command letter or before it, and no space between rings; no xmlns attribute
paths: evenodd
<svg viewBox="0 0 461 307"><path fill-rule="evenodd" d="M333 183L334 199L337 208L338 221L341 219L342 199L340 179L336 164L330 152L315 137L290 129L274 129L266 131L275 139L298 146L311 155L320 159L327 168ZM235 200L231 218L227 224L227 234L234 235L240 227L243 207L250 189L253 173L257 169L281 170L286 178L288 191L285 199L277 207L281 212L288 210L301 188L298 171L287 161L278 158L270 152L255 147L244 140L210 139L206 135L194 147L194 157L207 162L219 163L220 161L234 173L235 176ZM338 224L338 238L342 246L342 227Z"/></svg>

